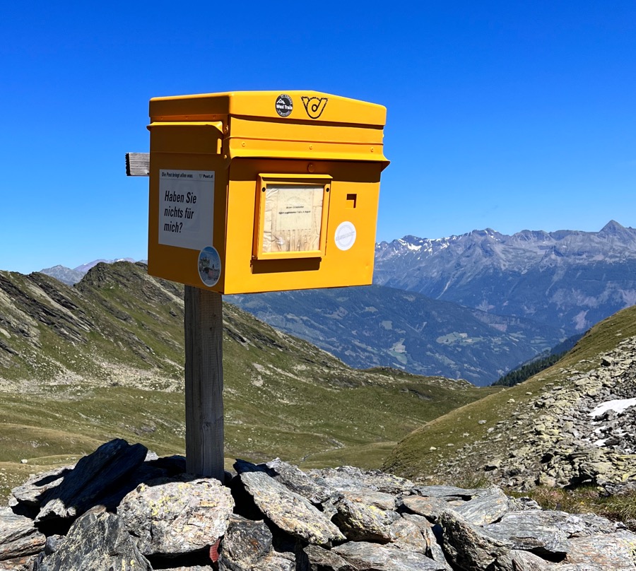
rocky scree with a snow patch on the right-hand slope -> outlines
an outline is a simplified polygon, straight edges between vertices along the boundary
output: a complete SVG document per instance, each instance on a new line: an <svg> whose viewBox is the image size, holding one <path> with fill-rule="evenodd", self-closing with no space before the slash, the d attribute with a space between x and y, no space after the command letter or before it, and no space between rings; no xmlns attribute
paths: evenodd
<svg viewBox="0 0 636 571"><path fill-rule="evenodd" d="M570 369L558 382L488 428L488 437L517 435L507 455L483 465L493 481L514 488L534 485L574 488L591 484L616 491L636 487L636 337L601 355L589 372ZM579 365L584 365L584 361ZM515 446L517 442L517 446ZM487 441L486 441L487 443ZM447 473L484 442L459 449Z"/></svg>

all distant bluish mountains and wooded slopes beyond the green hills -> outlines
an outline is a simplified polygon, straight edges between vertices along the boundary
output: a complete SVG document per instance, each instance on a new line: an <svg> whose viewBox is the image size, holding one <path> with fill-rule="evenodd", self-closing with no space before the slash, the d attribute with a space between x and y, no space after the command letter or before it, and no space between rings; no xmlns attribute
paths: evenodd
<svg viewBox="0 0 636 571"><path fill-rule="evenodd" d="M226 299L350 366L483 386L636 303L636 230L406 236L376 246L374 282Z"/></svg>

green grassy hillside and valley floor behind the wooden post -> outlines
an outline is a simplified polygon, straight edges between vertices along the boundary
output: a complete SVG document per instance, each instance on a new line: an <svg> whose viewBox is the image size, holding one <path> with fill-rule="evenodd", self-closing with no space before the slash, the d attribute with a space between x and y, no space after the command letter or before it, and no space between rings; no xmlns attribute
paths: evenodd
<svg viewBox="0 0 636 571"><path fill-rule="evenodd" d="M113 437L184 453L182 293L127 262L73 288L0 272L0 497ZM223 351L228 466L377 468L411 430L495 390L353 370L228 304Z"/></svg>

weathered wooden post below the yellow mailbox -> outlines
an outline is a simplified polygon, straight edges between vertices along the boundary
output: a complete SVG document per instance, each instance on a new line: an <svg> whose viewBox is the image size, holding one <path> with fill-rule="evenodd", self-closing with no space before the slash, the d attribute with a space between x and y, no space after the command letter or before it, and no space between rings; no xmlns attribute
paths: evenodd
<svg viewBox="0 0 636 571"><path fill-rule="evenodd" d="M223 305L185 286L186 469L223 482Z"/></svg>

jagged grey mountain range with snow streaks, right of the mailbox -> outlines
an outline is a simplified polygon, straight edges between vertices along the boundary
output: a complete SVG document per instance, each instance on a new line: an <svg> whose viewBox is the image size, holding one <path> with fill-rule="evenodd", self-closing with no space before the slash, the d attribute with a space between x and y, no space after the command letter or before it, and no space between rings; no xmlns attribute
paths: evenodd
<svg viewBox="0 0 636 571"><path fill-rule="evenodd" d="M636 303L636 230L474 230L380 242L374 283L581 334Z"/></svg>

